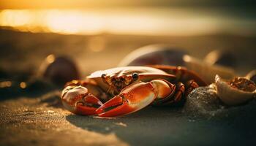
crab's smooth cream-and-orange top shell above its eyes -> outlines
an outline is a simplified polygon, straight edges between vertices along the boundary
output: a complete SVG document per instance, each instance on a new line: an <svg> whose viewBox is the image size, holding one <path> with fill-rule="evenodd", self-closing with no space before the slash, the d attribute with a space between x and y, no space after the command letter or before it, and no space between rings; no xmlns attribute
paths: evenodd
<svg viewBox="0 0 256 146"><path fill-rule="evenodd" d="M138 73L138 79L132 80L132 74ZM176 79L176 76L173 74L167 74L166 72L155 69L152 67L147 66L124 66L124 67L117 67L113 69L107 69L102 71L97 71L89 75L88 79L92 79L95 82L97 82L97 85L99 85L100 88L102 88L104 91L108 92L110 89L110 82L104 82L102 80L102 74L105 74L106 78L109 80L112 78L121 78L123 77L125 80L129 80L127 82L127 85L134 83L134 82L148 82L154 79L164 79L168 81L173 81Z"/></svg>

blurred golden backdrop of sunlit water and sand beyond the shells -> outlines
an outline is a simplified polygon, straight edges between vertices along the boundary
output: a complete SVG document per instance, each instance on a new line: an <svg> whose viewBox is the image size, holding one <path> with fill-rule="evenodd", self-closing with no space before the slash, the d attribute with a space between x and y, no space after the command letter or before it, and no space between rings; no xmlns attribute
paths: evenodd
<svg viewBox="0 0 256 146"><path fill-rule="evenodd" d="M36 74L50 55L72 58L82 76L117 66L132 50L165 44L204 58L236 57L255 69L255 1L1 0L0 71Z"/></svg>

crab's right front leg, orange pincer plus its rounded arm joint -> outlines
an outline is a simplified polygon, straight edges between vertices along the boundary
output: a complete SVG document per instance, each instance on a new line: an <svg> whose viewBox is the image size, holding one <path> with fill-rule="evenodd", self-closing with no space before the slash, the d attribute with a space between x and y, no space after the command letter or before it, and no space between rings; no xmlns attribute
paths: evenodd
<svg viewBox="0 0 256 146"><path fill-rule="evenodd" d="M165 80L135 82L97 109L99 117L116 117L136 112L156 99L173 94L174 85Z"/></svg>

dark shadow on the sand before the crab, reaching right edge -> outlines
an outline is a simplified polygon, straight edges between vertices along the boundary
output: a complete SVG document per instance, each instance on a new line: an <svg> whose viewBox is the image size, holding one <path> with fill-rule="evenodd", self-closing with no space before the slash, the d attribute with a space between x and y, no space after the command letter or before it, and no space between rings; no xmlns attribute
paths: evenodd
<svg viewBox="0 0 256 146"><path fill-rule="evenodd" d="M170 107L147 107L123 118L68 115L66 119L88 131L114 133L129 145L255 144L252 132L255 128L249 120L223 117L192 119L181 111Z"/></svg>

